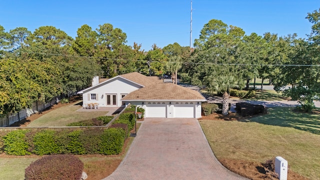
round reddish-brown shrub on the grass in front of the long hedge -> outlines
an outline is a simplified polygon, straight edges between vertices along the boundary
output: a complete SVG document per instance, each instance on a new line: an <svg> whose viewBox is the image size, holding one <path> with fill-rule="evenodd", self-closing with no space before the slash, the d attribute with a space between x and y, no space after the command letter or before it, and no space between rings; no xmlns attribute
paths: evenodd
<svg viewBox="0 0 320 180"><path fill-rule="evenodd" d="M74 155L48 155L32 162L25 169L25 180L81 179L83 162Z"/></svg>

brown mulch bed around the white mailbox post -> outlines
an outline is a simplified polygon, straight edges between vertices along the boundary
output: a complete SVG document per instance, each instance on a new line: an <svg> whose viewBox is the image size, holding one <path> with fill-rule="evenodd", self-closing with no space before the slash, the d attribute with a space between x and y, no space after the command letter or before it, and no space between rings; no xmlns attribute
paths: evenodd
<svg viewBox="0 0 320 180"><path fill-rule="evenodd" d="M250 162L244 160L237 159L219 159L221 164L228 168L229 170L252 180L258 179L277 179L273 177L271 174L268 174L262 163L260 162ZM288 169L287 180L307 180L305 178L292 170Z"/></svg>

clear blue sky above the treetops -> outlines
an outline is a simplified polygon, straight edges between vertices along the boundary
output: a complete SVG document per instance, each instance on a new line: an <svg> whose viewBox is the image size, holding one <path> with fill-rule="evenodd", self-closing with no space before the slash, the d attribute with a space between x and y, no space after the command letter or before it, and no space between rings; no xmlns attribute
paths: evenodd
<svg viewBox="0 0 320 180"><path fill-rule="evenodd" d="M52 25L76 36L77 28L111 23L127 35L127 44L163 47L177 42L189 46L190 0L3 0L0 25L5 31L26 27L30 31ZM192 43L202 26L219 19L252 32L297 33L305 38L311 23L307 12L319 9L320 0L192 0Z"/></svg>

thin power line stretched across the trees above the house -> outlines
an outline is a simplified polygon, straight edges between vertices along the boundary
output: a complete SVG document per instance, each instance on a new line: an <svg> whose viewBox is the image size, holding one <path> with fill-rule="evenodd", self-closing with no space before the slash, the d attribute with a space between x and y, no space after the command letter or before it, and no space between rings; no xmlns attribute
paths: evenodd
<svg viewBox="0 0 320 180"><path fill-rule="evenodd" d="M55 54L55 53L43 53L43 52L30 52L22 51L26 53L36 53L43 55L56 55L66 57L80 57L80 58L92 58L92 59L110 59L110 60L122 60L122 61L151 61L151 62L165 62L165 63L181 63L181 64L203 64L203 65L239 65L239 66L314 66L320 67L320 64L245 64L245 63L213 63L213 62L171 62L171 61L157 61L157 60L135 60L135 59L120 59L120 58L108 58L108 57L91 57L91 56L80 56L80 55L66 55L66 54Z"/></svg>

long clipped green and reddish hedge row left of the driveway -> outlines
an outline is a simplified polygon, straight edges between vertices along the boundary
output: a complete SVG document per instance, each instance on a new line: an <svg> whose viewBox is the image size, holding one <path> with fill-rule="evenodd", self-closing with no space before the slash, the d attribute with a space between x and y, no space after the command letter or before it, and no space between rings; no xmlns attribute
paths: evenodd
<svg viewBox="0 0 320 180"><path fill-rule="evenodd" d="M120 125L118 125L121 127ZM123 126L123 125L122 125ZM9 155L26 154L118 154L127 130L88 128L84 130L14 130L1 136L3 151ZM1 144L0 144L1 145Z"/></svg>

